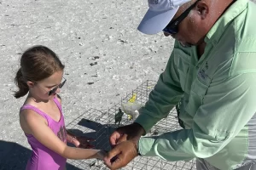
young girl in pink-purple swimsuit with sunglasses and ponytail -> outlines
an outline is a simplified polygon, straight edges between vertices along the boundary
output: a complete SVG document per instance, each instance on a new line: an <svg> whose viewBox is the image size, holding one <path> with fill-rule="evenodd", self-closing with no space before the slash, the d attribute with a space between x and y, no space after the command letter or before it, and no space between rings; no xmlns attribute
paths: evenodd
<svg viewBox="0 0 256 170"><path fill-rule="evenodd" d="M63 170L68 159L103 159L104 151L89 148L83 139L67 133L61 110L60 88L67 81L64 65L57 55L44 46L29 48L22 54L15 77L19 90L15 98L27 97L20 108L20 127L32 147L26 170Z"/></svg>

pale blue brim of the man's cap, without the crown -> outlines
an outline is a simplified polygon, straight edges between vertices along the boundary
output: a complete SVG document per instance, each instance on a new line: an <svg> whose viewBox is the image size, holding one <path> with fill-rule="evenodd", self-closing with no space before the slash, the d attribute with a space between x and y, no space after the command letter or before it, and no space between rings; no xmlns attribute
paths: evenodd
<svg viewBox="0 0 256 170"><path fill-rule="evenodd" d="M144 34L156 34L162 31L177 13L177 9L178 8L173 8L166 12L148 10L140 25L137 27L137 30Z"/></svg>

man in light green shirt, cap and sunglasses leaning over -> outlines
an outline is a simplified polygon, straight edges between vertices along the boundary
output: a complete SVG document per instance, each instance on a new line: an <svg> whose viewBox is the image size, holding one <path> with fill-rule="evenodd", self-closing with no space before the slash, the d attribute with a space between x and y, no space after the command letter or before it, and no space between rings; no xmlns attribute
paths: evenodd
<svg viewBox="0 0 256 170"><path fill-rule="evenodd" d="M256 5L247 0L148 0L138 30L176 39L166 70L131 125L111 137L105 162L138 154L196 158L197 169L256 170ZM182 130L142 137L181 102Z"/></svg>

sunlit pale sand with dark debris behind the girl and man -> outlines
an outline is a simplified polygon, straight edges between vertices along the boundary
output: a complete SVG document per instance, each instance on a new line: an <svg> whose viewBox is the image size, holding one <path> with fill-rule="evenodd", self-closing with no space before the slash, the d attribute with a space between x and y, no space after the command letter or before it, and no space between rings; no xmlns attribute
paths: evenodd
<svg viewBox="0 0 256 170"><path fill-rule="evenodd" d="M173 40L137 31L147 8L145 0L0 0L0 141L30 149L18 117L25 98L12 94L20 54L32 45L53 49L66 65L61 97L67 124L157 80Z"/></svg>

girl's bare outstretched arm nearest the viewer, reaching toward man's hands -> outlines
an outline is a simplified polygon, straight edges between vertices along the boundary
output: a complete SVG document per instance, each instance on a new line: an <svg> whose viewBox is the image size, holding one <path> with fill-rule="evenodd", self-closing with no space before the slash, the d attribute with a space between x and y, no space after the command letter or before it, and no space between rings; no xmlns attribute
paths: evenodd
<svg viewBox="0 0 256 170"><path fill-rule="evenodd" d="M41 144L44 144L45 147L49 148L49 150L53 150L67 159L103 159L104 152L101 150L90 150L67 146L67 144L62 142L61 139L59 139L48 127L44 117L38 115L35 111L21 111L20 126L24 132L32 134L34 138L38 139L38 141Z"/></svg>

